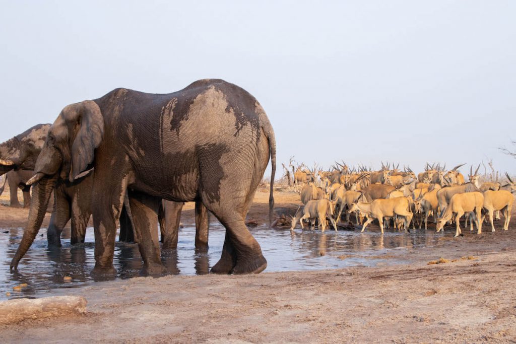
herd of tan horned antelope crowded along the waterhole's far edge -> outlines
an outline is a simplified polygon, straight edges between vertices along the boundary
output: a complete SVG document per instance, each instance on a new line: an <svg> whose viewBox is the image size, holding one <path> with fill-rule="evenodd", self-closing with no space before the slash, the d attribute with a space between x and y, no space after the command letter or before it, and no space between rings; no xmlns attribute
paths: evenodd
<svg viewBox="0 0 516 344"><path fill-rule="evenodd" d="M381 233L391 221L398 230L407 232L411 223L413 229L416 224L421 229L424 223L426 230L428 218L433 217L437 232L443 230L445 223L455 221L457 237L462 235L459 220L463 215L464 226L469 220L471 231L475 224L477 233L482 233L482 222L489 219L494 232L493 217L499 219L500 212L505 218L503 229L507 231L516 183L505 173L507 183L504 185L499 182L480 184L480 165L475 172L473 166L470 168L466 183L458 170L463 165L446 170L446 166L427 163L425 171L416 176L410 168L399 171L399 163L392 168L390 163L382 163L379 171L363 166L350 169L344 161L336 162L330 171L316 166L311 170L304 164L294 170L291 159L292 183L300 192L303 204L292 216L291 230L298 222L304 228L303 221L310 221L314 230L317 221L321 231L326 230L329 222L336 231L345 211L346 222L354 214L357 225L363 223L362 232L374 220L378 220ZM285 170L291 183L290 171L286 167Z"/></svg>

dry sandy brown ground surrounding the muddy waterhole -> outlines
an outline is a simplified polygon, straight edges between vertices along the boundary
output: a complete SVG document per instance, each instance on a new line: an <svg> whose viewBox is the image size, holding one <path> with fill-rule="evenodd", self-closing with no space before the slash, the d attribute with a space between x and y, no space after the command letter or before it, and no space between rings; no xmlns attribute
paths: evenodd
<svg viewBox="0 0 516 344"><path fill-rule="evenodd" d="M275 198L277 211L297 209L297 194ZM267 201L257 192L248 220L267 222ZM0 206L4 227L23 226L26 216ZM192 216L187 204L183 222ZM516 226L483 230L410 250L410 265L59 289L51 294L84 296L88 315L2 326L0 342L516 342ZM427 264L441 257L450 261Z"/></svg>

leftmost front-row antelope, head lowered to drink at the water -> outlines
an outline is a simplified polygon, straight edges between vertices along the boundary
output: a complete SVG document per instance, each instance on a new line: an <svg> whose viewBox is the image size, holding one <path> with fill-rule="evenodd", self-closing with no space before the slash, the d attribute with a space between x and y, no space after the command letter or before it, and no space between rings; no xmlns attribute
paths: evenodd
<svg viewBox="0 0 516 344"><path fill-rule="evenodd" d="M311 230L315 229L315 220L319 220L319 226L321 228L321 232L326 230L328 227L328 220L330 219L331 224L335 232L337 231L337 224L333 219L333 207L335 206L334 201L330 201L327 199L324 200L311 200L303 207L303 211L300 212L299 209L296 211L296 215L292 216L291 222L291 231L294 231L296 227L296 223L299 221L301 224L301 228L303 228L303 220L310 220Z"/></svg>

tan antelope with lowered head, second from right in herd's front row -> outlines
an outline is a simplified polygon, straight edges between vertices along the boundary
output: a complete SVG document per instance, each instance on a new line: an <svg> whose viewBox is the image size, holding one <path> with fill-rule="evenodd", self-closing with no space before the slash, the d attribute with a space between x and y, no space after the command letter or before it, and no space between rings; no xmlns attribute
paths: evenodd
<svg viewBox="0 0 516 344"><path fill-rule="evenodd" d="M457 226L455 236L458 237L460 234L462 234L462 231L460 230L460 218L467 212L474 212L476 217L475 224L477 225L477 234L481 234L482 207L483 195L481 192L473 191L454 194L451 197L450 202L444 211L444 214L437 220L436 231L440 232L443 230L444 224L451 220L453 214L457 214L455 216L455 224ZM473 231L473 223L471 223L471 230Z"/></svg>

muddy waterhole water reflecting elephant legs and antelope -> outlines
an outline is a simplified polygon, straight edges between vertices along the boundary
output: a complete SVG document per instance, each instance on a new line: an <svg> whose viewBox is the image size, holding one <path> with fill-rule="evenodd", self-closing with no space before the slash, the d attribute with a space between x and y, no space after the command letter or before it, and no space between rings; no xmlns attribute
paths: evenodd
<svg viewBox="0 0 516 344"><path fill-rule="evenodd" d="M6 233L7 232L7 233ZM379 233L359 231L301 231L251 228L267 259L267 272L320 270L348 266L376 266L404 263L403 253L416 247L432 245L439 235L433 231L415 233ZM414 232L414 231L413 231ZM224 242L224 228L211 224L208 252L194 249L195 227L182 228L177 250L163 251L162 260L168 273L195 275L208 273L217 263ZM35 242L22 259L16 273L9 272L9 264L23 235L22 228L0 231L0 299L34 296L52 288L71 288L95 282L90 276L94 261L93 228L88 228L86 243L70 245L70 230L63 232L63 246L47 249L46 228L42 228ZM398 254L399 253L399 254ZM118 243L114 265L117 279L138 276L141 257L136 244ZM63 277L72 277L64 282ZM26 283L21 292L12 287ZM10 292L10 296L6 296Z"/></svg>

